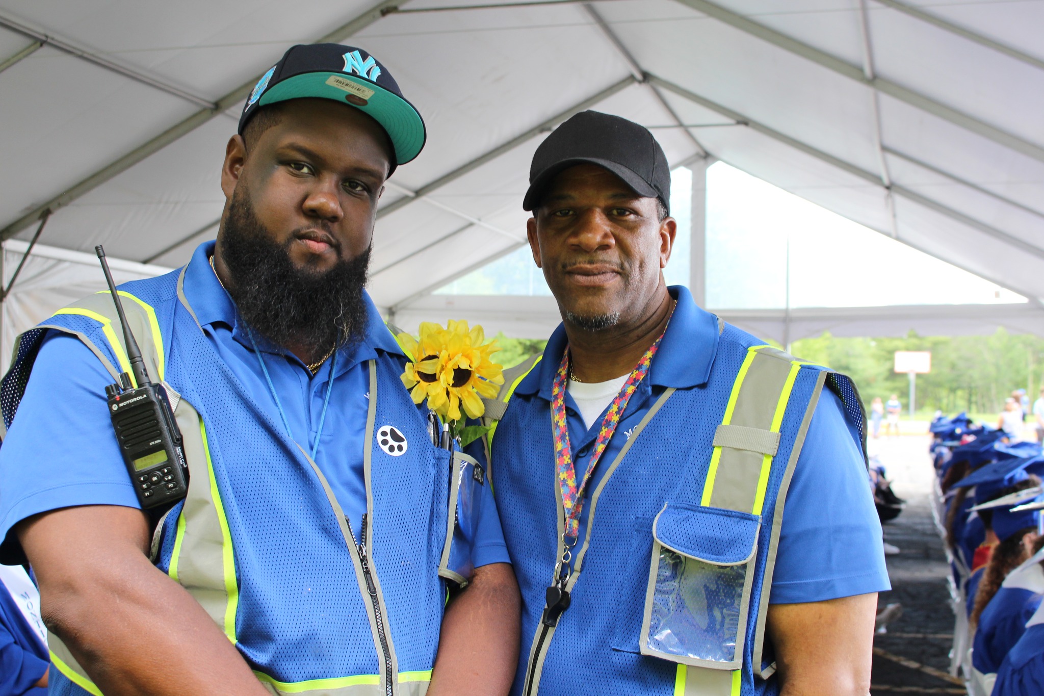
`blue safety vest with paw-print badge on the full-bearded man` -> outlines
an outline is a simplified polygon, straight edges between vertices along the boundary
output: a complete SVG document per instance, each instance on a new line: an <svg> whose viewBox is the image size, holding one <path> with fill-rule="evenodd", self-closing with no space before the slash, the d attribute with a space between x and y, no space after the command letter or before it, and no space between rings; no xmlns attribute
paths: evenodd
<svg viewBox="0 0 1044 696"><path fill-rule="evenodd" d="M450 473L460 455L431 443L402 387L400 361L371 360L370 522L364 532L350 531L323 472L220 360L184 278L183 268L119 291L148 373L170 398L191 477L187 498L157 526L153 562L199 602L274 694L424 694L445 607L441 576L452 577ZM5 426L48 330L79 338L114 381L129 371L112 297L92 295L19 337L0 383ZM383 426L405 435L405 452L393 457L379 447ZM352 533L364 533L365 563ZM101 693L56 635L50 648L68 679L52 676L52 693Z"/></svg>

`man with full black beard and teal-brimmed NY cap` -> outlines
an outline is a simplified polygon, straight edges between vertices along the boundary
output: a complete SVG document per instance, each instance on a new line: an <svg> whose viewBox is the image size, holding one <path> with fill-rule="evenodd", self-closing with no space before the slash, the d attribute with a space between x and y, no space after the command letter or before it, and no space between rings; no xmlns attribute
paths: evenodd
<svg viewBox="0 0 1044 696"><path fill-rule="evenodd" d="M506 691L519 604L496 509L479 499L475 570L447 603L451 454L363 290L384 181L424 138L359 49L295 46L258 82L216 243L121 290L184 439L173 505L149 499L176 462L121 461L112 297L20 339L0 387L0 554L24 550L39 578L52 693Z"/></svg>

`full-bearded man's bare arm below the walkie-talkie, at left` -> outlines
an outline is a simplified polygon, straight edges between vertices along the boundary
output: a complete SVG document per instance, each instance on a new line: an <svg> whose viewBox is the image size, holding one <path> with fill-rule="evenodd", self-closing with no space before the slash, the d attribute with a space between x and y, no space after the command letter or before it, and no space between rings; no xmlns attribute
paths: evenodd
<svg viewBox="0 0 1044 696"><path fill-rule="evenodd" d="M17 531L44 623L106 696L267 696L203 607L149 562L141 510L68 507Z"/></svg>

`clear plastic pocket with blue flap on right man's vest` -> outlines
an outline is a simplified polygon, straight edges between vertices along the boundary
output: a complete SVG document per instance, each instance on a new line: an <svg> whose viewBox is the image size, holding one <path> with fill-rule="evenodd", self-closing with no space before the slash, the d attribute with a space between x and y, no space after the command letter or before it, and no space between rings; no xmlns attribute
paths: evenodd
<svg viewBox="0 0 1044 696"><path fill-rule="evenodd" d="M761 518L668 503L652 522L641 653L734 670L743 662Z"/></svg>

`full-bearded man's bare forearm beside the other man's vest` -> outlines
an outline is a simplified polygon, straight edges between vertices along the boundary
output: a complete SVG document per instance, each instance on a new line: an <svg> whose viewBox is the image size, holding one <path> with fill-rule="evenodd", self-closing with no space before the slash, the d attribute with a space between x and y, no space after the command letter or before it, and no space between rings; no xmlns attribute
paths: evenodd
<svg viewBox="0 0 1044 696"><path fill-rule="evenodd" d="M428 696L503 696L519 659L522 603L508 563L475 569L447 607Z"/></svg>

